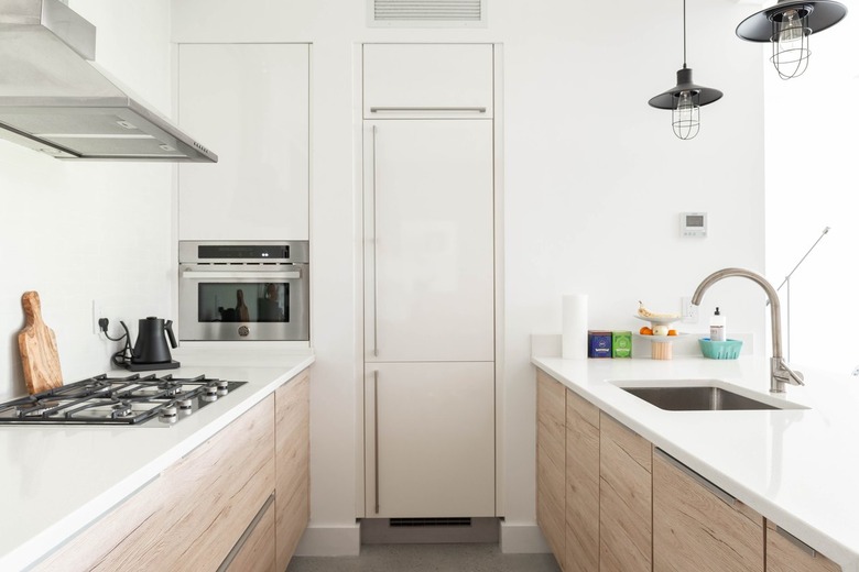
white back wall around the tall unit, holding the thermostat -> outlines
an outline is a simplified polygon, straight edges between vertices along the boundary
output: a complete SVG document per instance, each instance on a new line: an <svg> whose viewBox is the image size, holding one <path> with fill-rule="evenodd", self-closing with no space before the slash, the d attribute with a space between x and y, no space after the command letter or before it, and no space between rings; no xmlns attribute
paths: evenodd
<svg viewBox="0 0 859 572"><path fill-rule="evenodd" d="M670 310L713 271L763 270L761 68L733 35L748 6L689 6L688 64L699 84L726 94L703 109L702 133L691 142L674 138L668 112L646 105L675 85L683 63L678 1L493 0L488 29L466 31L368 29L365 2L355 0L265 0L252 11L183 0L173 8L174 42L313 43L315 528L351 524L357 498L357 44L503 43L508 524L534 522L529 336L559 331L562 294L590 294L591 327L632 329L638 299ZM692 210L709 213L708 239L678 238L678 213ZM715 286L704 309L718 304L732 328L762 336L762 293L733 282Z"/></svg>

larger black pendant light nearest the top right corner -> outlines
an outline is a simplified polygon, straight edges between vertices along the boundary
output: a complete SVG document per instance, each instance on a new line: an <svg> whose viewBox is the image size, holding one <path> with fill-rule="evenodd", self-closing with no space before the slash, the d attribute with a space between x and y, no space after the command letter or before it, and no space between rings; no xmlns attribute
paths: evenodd
<svg viewBox="0 0 859 572"><path fill-rule="evenodd" d="M779 0L772 8L761 10L740 22L737 35L749 42L770 42L779 77L791 79L803 75L808 67L808 37L837 24L847 14L847 8L834 0L796 2Z"/></svg>

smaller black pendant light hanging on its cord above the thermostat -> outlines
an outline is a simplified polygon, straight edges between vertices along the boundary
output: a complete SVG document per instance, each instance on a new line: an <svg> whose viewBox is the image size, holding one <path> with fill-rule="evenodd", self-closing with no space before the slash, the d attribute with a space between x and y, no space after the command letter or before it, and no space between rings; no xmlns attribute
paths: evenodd
<svg viewBox="0 0 859 572"><path fill-rule="evenodd" d="M656 109L671 109L671 127L679 139L693 139L700 129L700 107L713 103L721 91L692 82L692 68L686 67L686 0L683 0L683 68L677 70L677 86L651 98Z"/></svg>

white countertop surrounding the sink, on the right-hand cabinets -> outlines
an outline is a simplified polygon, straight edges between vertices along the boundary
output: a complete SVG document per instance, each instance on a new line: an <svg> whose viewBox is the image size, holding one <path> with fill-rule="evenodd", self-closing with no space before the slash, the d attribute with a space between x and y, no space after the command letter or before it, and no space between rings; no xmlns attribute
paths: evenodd
<svg viewBox="0 0 859 572"><path fill-rule="evenodd" d="M769 361L760 358L532 362L845 571L859 572L859 378L797 366L806 385L773 395ZM667 411L617 386L703 380L807 409Z"/></svg>

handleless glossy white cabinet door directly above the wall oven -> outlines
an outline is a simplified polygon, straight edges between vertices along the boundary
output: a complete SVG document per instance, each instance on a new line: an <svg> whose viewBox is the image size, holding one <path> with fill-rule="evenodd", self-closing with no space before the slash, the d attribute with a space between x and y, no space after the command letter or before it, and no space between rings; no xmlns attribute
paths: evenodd
<svg viewBox="0 0 859 572"><path fill-rule="evenodd" d="M178 122L217 164L178 167L180 240L307 240L309 48L182 44Z"/></svg>

